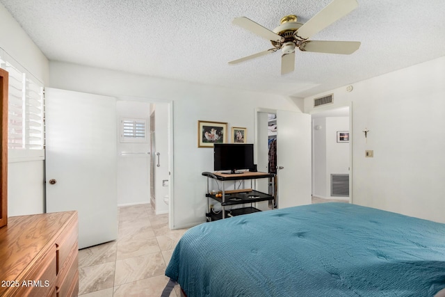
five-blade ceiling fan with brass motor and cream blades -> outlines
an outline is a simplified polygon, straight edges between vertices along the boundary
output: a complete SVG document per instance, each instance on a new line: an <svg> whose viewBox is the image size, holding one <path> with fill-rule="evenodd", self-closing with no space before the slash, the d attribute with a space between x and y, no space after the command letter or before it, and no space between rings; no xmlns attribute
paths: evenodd
<svg viewBox="0 0 445 297"><path fill-rule="evenodd" d="M281 19L280 26L277 26L273 31L266 29L247 17L236 17L232 24L241 26L262 38L270 40L273 48L230 61L229 64L238 64L266 54L275 53L275 51L281 49L281 74L288 74L295 69L295 50L297 47L300 51L353 54L354 51L359 49L360 42L309 40L309 38L338 19L341 19L341 17L348 15L357 6L357 0L334 0L305 24L297 22L296 15L287 15Z"/></svg>

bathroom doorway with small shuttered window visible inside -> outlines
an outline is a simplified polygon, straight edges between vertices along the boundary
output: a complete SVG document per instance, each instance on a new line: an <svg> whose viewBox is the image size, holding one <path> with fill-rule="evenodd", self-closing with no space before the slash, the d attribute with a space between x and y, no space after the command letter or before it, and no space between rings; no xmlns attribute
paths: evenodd
<svg viewBox="0 0 445 297"><path fill-rule="evenodd" d="M118 101L118 206L151 204L156 214L170 212L170 105ZM125 121L127 133L135 136L130 141L122 140Z"/></svg>

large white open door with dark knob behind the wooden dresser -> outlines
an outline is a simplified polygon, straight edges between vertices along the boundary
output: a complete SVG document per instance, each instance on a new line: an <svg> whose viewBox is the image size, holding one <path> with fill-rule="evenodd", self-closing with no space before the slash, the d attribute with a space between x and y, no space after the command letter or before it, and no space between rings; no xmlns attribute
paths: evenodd
<svg viewBox="0 0 445 297"><path fill-rule="evenodd" d="M79 248L118 237L116 101L45 89L47 212L76 210Z"/></svg>

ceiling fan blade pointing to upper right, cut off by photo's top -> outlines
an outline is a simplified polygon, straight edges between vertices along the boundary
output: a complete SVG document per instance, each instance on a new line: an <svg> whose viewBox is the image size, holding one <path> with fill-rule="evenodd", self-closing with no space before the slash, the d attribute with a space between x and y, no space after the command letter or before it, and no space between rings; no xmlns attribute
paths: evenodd
<svg viewBox="0 0 445 297"><path fill-rule="evenodd" d="M357 6L357 0L332 1L296 31L296 38L300 38L302 40L310 38L312 35L325 29L338 19L341 19L341 17L348 15L348 13L355 10Z"/></svg>

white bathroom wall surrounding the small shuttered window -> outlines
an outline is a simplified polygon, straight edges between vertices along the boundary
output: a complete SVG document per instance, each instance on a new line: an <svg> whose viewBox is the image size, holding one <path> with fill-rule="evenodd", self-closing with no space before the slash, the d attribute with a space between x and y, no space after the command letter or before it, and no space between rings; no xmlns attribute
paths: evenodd
<svg viewBox="0 0 445 297"><path fill-rule="evenodd" d="M143 118L149 120L149 102L118 100L118 205L149 203L149 142L125 143L120 141L120 120L122 118Z"/></svg>

